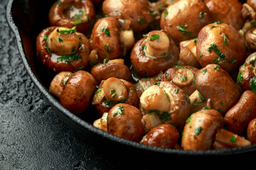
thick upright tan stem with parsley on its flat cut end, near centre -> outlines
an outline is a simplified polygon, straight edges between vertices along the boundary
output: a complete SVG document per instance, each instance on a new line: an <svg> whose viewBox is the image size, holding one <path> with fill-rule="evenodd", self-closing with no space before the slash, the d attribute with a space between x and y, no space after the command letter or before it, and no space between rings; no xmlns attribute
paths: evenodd
<svg viewBox="0 0 256 170"><path fill-rule="evenodd" d="M154 57L164 57L169 50L170 40L161 30L153 30L147 36L146 52Z"/></svg>

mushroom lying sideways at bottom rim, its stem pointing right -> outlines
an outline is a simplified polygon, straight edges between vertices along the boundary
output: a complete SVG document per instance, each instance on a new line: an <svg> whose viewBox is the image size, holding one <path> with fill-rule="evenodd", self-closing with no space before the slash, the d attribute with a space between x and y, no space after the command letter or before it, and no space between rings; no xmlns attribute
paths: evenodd
<svg viewBox="0 0 256 170"><path fill-rule="evenodd" d="M223 129L222 115L213 109L193 113L186 121L181 139L185 150L228 149L244 147L251 142Z"/></svg>

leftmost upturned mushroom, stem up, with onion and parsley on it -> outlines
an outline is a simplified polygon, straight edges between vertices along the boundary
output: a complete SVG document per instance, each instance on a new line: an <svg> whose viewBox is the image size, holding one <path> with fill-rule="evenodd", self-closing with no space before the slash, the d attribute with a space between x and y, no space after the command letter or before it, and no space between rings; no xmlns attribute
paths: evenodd
<svg viewBox="0 0 256 170"><path fill-rule="evenodd" d="M89 63L90 42L76 28L48 27L36 39L41 62L54 72L74 72Z"/></svg>

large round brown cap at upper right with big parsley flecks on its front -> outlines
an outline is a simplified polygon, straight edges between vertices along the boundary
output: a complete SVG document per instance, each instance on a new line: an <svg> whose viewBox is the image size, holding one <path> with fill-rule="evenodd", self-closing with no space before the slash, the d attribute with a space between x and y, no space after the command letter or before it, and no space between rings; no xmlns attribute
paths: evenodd
<svg viewBox="0 0 256 170"><path fill-rule="evenodd" d="M229 73L235 72L245 60L245 40L232 26L226 23L211 23L198 33L196 55L201 67L219 64Z"/></svg>

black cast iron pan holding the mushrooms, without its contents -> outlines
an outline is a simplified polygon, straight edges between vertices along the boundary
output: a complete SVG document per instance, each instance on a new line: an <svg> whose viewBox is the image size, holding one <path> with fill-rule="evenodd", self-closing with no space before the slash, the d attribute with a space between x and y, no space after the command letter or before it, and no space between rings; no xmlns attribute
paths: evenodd
<svg viewBox="0 0 256 170"><path fill-rule="evenodd" d="M157 157L216 157L248 154L256 150L256 145L208 151L184 151L140 145L137 142L124 140L93 127L93 120L99 118L93 108L89 108L81 118L63 108L58 100L48 93L50 81L55 73L44 67L36 57L36 37L41 30L50 26L48 11L53 3L54 1L50 0L10 0L6 8L6 17L12 32L16 36L18 51L29 76L46 100L55 108L60 118L71 129L85 137L85 140L96 143L98 146L103 144L112 148L112 151L121 149L122 152L136 152L139 157L156 157L156 155L158 155ZM100 8L100 6L95 8Z"/></svg>

